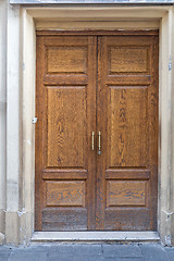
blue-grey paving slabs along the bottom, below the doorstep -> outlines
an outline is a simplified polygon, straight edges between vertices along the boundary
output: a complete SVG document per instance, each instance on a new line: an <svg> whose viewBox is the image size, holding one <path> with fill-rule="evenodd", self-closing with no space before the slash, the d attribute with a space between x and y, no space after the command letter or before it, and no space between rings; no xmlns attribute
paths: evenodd
<svg viewBox="0 0 174 261"><path fill-rule="evenodd" d="M174 261L174 247L160 244L0 246L0 261Z"/></svg>

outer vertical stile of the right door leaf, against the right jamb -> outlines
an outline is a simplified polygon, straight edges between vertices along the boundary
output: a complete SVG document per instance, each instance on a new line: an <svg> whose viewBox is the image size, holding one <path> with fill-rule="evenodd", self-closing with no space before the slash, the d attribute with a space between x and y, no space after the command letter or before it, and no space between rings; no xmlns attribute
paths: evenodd
<svg viewBox="0 0 174 261"><path fill-rule="evenodd" d="M158 137L159 137L159 37L151 37L151 75L152 83L149 89L149 100L148 105L150 108L149 117L149 169L151 170L151 181L149 184L149 192L152 200L149 200L150 211L150 228L157 231L157 211L158 211Z"/></svg>

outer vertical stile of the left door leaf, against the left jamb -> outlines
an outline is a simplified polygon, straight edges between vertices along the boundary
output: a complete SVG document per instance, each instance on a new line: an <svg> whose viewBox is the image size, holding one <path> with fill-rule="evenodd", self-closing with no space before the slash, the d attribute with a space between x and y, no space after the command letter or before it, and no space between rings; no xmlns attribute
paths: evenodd
<svg viewBox="0 0 174 261"><path fill-rule="evenodd" d="M37 164L35 164L35 229L41 231L41 210L42 210L42 137L44 137L44 84L42 75L45 67L45 51L44 51L44 37L37 37L36 48L38 54L36 58L36 116L37 124L35 125L35 154L37 156Z"/></svg>

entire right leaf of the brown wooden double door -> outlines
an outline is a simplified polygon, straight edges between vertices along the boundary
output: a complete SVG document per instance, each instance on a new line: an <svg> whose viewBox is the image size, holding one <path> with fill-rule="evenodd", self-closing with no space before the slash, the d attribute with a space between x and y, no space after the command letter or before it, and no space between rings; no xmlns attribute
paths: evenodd
<svg viewBox="0 0 174 261"><path fill-rule="evenodd" d="M98 42L96 229L156 231L158 36Z"/></svg>

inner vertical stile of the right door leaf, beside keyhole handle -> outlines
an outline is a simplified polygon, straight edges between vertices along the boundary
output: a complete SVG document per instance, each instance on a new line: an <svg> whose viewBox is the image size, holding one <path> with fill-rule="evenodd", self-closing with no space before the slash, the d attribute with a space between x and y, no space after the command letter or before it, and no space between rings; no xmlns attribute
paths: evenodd
<svg viewBox="0 0 174 261"><path fill-rule="evenodd" d="M97 206L96 206L96 229L104 229L105 209L105 184L104 170L107 157L107 88L105 70L103 64L105 55L104 37L98 36L98 86L97 86ZM101 154L98 154L99 132L101 132Z"/></svg>

